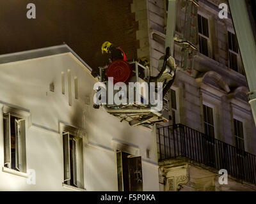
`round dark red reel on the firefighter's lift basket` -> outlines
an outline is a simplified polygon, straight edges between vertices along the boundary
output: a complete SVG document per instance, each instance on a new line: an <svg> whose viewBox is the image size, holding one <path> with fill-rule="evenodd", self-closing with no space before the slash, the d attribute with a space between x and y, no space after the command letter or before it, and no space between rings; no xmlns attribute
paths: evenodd
<svg viewBox="0 0 256 204"><path fill-rule="evenodd" d="M127 82L131 77L132 69L130 64L122 59L118 59L109 64L107 69L107 77L113 77L113 83Z"/></svg>

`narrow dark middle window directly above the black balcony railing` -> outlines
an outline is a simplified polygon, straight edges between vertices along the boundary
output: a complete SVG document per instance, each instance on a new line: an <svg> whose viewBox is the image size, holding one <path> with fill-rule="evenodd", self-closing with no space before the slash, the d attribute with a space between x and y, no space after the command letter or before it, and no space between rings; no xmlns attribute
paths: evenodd
<svg viewBox="0 0 256 204"><path fill-rule="evenodd" d="M214 138L213 110L206 105L204 105L204 130L205 135Z"/></svg>

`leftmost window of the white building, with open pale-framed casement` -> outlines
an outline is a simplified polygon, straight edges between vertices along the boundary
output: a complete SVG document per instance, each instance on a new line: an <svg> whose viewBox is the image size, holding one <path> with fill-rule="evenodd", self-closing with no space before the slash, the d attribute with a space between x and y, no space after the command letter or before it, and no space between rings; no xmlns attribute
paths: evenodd
<svg viewBox="0 0 256 204"><path fill-rule="evenodd" d="M3 114L4 167L26 173L25 120Z"/></svg>

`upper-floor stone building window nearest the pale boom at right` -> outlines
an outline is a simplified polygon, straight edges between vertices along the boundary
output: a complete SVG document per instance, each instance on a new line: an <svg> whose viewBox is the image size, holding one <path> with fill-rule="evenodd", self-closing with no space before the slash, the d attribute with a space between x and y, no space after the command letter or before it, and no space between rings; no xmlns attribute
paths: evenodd
<svg viewBox="0 0 256 204"><path fill-rule="evenodd" d="M228 31L229 67L231 69L234 69L235 71L238 71L237 55L238 55L238 44L236 40L236 35Z"/></svg>

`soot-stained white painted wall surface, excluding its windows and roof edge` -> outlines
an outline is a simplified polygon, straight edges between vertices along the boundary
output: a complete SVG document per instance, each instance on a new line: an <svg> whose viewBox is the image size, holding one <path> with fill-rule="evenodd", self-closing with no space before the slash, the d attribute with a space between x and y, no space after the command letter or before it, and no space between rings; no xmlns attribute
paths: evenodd
<svg viewBox="0 0 256 204"><path fill-rule="evenodd" d="M67 70L72 75L72 106L68 105ZM31 113L26 129L27 168L36 171L36 185L26 178L2 170L3 108L0 108L0 191L67 191L63 183L63 147L60 121L86 131L84 143L84 187L88 191L117 191L115 146L129 143L142 156L143 190L159 191L155 131L132 128L126 122L93 105L93 84L88 69L71 53L0 64L0 103ZM61 71L65 72L65 95L61 92ZM78 78L78 99L74 96ZM54 82L55 92L49 91ZM86 105L86 97L90 105ZM84 141L86 141L84 138ZM146 150L150 149L150 159Z"/></svg>

